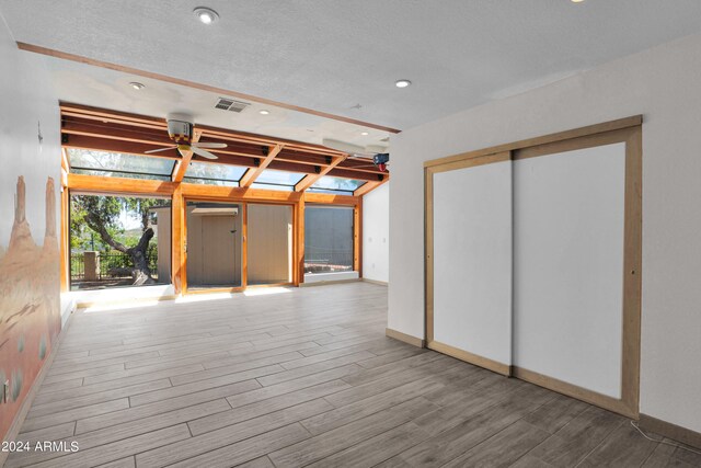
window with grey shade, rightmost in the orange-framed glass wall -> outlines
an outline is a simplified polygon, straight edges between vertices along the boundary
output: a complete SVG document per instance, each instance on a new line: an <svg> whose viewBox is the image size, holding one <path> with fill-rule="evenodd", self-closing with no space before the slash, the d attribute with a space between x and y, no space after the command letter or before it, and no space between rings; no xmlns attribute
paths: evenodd
<svg viewBox="0 0 701 468"><path fill-rule="evenodd" d="M307 206L304 273L353 271L353 208Z"/></svg>

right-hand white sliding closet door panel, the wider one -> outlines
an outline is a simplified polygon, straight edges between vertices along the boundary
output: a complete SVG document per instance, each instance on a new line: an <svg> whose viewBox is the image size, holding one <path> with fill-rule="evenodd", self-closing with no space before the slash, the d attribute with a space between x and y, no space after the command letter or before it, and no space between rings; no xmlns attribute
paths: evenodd
<svg viewBox="0 0 701 468"><path fill-rule="evenodd" d="M514 161L514 364L614 399L624 184L624 142Z"/></svg>

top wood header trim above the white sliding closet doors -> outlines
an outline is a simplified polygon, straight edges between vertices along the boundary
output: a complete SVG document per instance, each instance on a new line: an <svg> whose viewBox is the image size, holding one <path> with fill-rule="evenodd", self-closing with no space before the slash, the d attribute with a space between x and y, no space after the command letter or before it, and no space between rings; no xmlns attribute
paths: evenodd
<svg viewBox="0 0 701 468"><path fill-rule="evenodd" d="M527 138L519 141L514 141L505 145L492 146L489 148L478 149L474 151L462 152L446 158L434 159L424 162L425 168L433 165L440 165L449 162L461 161L464 159L479 158L481 156L493 155L495 152L513 151L516 149L524 149L531 146L545 145L553 141L566 140L572 138L578 138L587 135L600 134L605 132L618 130L622 128L634 127L642 125L643 116L633 115L631 117L619 118L617 121L605 122L602 124L589 125L586 127L575 128L572 130L559 132L550 135L544 135L536 138Z"/></svg>

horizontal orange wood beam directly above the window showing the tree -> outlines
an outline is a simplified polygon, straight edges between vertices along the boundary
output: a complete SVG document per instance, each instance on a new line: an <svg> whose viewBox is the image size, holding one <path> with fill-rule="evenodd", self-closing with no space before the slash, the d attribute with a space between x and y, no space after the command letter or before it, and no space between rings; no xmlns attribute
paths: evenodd
<svg viewBox="0 0 701 468"><path fill-rule="evenodd" d="M174 182L68 174L68 189L91 193L171 196L176 186Z"/></svg>

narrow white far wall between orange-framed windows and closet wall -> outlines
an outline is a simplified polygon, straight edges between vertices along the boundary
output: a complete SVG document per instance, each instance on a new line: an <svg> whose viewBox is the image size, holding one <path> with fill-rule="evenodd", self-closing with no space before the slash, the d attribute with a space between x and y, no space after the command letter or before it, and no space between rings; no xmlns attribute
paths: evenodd
<svg viewBox="0 0 701 468"><path fill-rule="evenodd" d="M423 206L414 216L423 216ZM423 218L422 218L423 219ZM363 197L363 277L389 283L390 182Z"/></svg>

